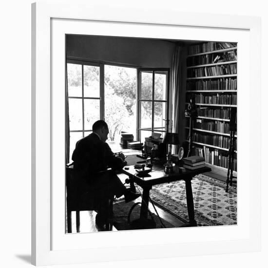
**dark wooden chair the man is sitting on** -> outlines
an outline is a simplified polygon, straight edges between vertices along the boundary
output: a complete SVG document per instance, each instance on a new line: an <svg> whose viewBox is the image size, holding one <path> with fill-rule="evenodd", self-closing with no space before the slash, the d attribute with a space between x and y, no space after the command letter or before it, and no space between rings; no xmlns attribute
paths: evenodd
<svg viewBox="0 0 268 268"><path fill-rule="evenodd" d="M98 172L111 172L111 169ZM100 207L108 214L105 222L105 230L112 230L112 217L113 217L113 201L114 197L102 198L99 189L89 189L83 191L79 182L78 172L74 169L74 163L66 165L66 201L67 201L67 231L72 232L72 211L76 211L76 227L77 232L80 232L80 211L96 211Z"/></svg>

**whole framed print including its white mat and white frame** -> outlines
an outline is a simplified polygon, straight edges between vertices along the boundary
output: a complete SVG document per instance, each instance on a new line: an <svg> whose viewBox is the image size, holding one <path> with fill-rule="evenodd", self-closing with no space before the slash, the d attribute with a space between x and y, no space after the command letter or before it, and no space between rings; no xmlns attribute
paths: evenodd
<svg viewBox="0 0 268 268"><path fill-rule="evenodd" d="M260 19L136 11L32 5L34 265L260 249Z"/></svg>

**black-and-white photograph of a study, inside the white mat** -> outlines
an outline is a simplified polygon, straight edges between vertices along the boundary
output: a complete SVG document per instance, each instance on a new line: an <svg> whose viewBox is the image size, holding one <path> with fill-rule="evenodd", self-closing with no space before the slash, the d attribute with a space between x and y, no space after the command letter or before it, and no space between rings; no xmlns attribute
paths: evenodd
<svg viewBox="0 0 268 268"><path fill-rule="evenodd" d="M237 50L66 34L66 233L237 225Z"/></svg>

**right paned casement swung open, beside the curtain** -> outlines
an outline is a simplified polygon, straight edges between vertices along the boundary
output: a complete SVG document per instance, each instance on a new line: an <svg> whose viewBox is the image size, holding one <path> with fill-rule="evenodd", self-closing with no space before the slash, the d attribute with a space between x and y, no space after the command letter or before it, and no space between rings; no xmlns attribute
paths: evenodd
<svg viewBox="0 0 268 268"><path fill-rule="evenodd" d="M167 69L139 69L138 136L141 142L152 132L167 131L168 85Z"/></svg>

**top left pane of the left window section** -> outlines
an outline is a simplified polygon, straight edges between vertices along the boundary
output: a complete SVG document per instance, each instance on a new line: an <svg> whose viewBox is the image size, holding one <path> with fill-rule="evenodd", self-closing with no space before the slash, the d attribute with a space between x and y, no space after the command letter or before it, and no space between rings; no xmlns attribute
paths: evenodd
<svg viewBox="0 0 268 268"><path fill-rule="evenodd" d="M67 81L69 97L82 96L82 65L67 63Z"/></svg>

